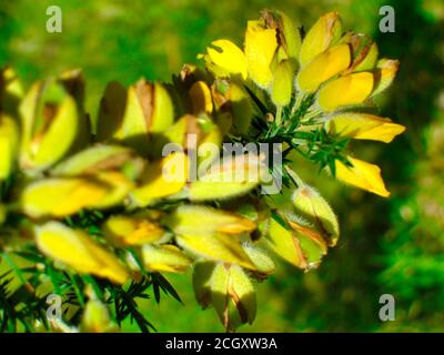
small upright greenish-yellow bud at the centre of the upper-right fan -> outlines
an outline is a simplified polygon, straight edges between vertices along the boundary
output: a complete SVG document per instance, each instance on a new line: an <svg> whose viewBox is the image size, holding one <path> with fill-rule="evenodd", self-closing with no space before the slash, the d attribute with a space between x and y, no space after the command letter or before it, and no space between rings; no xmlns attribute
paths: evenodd
<svg viewBox="0 0 444 355"><path fill-rule="evenodd" d="M293 91L293 69L287 60L278 64L273 78L271 99L276 106L286 106Z"/></svg>

